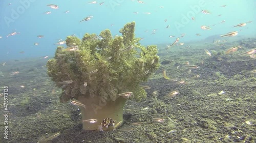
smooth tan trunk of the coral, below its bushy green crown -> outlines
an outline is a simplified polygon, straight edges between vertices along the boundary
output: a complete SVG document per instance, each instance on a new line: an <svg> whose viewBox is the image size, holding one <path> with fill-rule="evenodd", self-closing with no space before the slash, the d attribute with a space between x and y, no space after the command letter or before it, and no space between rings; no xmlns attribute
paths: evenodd
<svg viewBox="0 0 256 143"><path fill-rule="evenodd" d="M112 118L116 124L123 121L123 107L126 99L117 98L115 101L105 101L99 97L86 98L79 96L78 101L86 105L86 108L80 107L82 120L96 119L96 123L83 122L83 130L99 130L99 126L106 118ZM123 123L123 122L121 122ZM119 124L121 125L121 124ZM118 126L119 126L118 125ZM103 127L103 130L113 130L114 126L108 128Z"/></svg>

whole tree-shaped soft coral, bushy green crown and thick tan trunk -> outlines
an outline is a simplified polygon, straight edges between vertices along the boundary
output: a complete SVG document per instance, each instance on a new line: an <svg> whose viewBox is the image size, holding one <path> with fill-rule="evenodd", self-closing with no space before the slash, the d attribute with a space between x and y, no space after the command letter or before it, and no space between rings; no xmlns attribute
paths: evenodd
<svg viewBox="0 0 256 143"><path fill-rule="evenodd" d="M126 23L112 37L110 30L99 36L86 33L80 40L66 39L47 62L48 75L62 88L61 102L77 100L84 130L110 130L123 122L127 99L146 97L139 85L160 66L157 46L142 46L135 38L135 22Z"/></svg>

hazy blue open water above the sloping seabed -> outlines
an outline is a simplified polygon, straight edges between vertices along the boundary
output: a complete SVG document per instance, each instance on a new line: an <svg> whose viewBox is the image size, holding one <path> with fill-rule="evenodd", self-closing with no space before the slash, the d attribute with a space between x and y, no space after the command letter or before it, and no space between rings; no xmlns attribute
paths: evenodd
<svg viewBox="0 0 256 143"><path fill-rule="evenodd" d="M169 35L179 37L183 33L186 35L181 42L200 41L208 36L232 31L238 31L241 38L255 37L256 33L254 0L143 0L145 4L131 0L102 0L96 1L97 4L89 4L90 2L92 1L1 1L0 61L41 58L47 55L51 57L54 55L57 39L65 40L68 35L73 34L82 38L84 33L99 34L106 28L111 30L113 36L120 35L119 29L131 21L136 22L136 37L144 38L141 41L144 45L170 44L175 38L169 38ZM101 2L104 3L99 5ZM8 5L9 3L11 4ZM47 4L55 4L59 8L51 9ZM221 7L223 5L226 7ZM68 10L70 12L65 13ZM211 14L203 14L202 10L208 10ZM47 11L51 11L51 14L44 14ZM145 14L146 12L151 14ZM87 16L93 18L79 22ZM225 22L221 23L223 20ZM232 27L247 21L252 22L243 27ZM169 28L166 28L167 25ZM211 30L201 30L201 25L209 25ZM156 30L155 34L152 34L153 30ZM6 37L13 32L20 34ZM196 36L197 33L201 36ZM45 37L37 38L38 35Z"/></svg>

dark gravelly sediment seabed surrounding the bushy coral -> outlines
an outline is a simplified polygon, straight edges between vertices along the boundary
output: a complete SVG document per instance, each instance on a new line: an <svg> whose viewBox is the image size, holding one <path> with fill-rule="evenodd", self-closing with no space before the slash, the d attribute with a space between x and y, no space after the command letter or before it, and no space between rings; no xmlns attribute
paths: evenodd
<svg viewBox="0 0 256 143"><path fill-rule="evenodd" d="M243 41L244 45L246 43L248 40ZM254 142L256 78L255 73L246 72L255 70L256 60L238 53L255 48L255 45L230 55L223 53L231 45L226 45L225 49L207 48L212 56L204 53L204 46L191 45L191 52L178 50L171 54L162 50L160 58L174 59L174 62L163 64L152 79L143 84L151 87L146 90L147 98L139 103L128 101L126 109L138 110L124 111L123 125L108 132L82 130L77 107L59 103L60 89L55 88L47 76L46 67L41 67L46 62L17 61L1 67L4 77L0 83L9 85L11 114L9 139L0 142L37 142L46 133L59 131L60 135L48 142ZM186 61L200 68L189 71L184 66ZM17 68L20 73L10 76L9 72ZM164 79L163 69L170 79L178 78L185 84ZM198 74L201 76L195 78ZM175 90L180 94L162 98ZM152 95L154 91L158 91L156 96ZM218 95L221 91L225 93ZM53 111L56 109L59 111ZM165 122L157 123L152 118L163 118ZM142 125L131 124L136 122ZM135 130L124 130L131 128Z"/></svg>

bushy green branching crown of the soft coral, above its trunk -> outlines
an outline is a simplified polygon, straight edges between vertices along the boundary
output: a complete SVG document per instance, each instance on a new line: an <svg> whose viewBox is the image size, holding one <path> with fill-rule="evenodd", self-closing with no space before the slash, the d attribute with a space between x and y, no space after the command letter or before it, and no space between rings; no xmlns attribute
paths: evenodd
<svg viewBox="0 0 256 143"><path fill-rule="evenodd" d="M61 87L62 100L78 96L100 96L103 100L116 100L118 94L133 92L140 101L146 92L139 87L160 66L157 46L147 47L135 38L135 22L121 28L122 36L112 37L110 30L96 34L84 34L82 40L68 36L67 46L75 50L63 50L58 46L54 59L47 63L48 75ZM67 85L59 82L72 80Z"/></svg>

